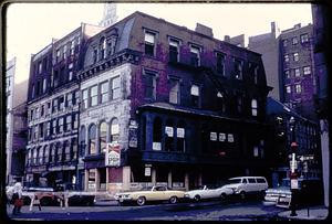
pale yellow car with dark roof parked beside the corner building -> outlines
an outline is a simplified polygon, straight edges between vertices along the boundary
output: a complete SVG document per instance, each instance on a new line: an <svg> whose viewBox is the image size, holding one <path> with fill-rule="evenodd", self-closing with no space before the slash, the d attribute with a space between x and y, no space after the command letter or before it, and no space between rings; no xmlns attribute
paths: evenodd
<svg viewBox="0 0 332 224"><path fill-rule="evenodd" d="M115 194L115 200L120 204L136 202L139 206L142 206L146 202L153 201L168 201L169 203L175 204L179 200L184 199L184 191L175 191L167 189L164 185L157 185L145 191L117 193Z"/></svg>

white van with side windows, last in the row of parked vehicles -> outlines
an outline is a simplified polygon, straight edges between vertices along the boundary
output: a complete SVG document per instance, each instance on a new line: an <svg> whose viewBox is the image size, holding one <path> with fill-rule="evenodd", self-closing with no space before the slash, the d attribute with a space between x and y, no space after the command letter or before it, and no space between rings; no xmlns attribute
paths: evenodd
<svg viewBox="0 0 332 224"><path fill-rule="evenodd" d="M231 189L235 194L245 199L247 194L263 195L269 185L264 177L237 177L228 179L228 184L222 188Z"/></svg>

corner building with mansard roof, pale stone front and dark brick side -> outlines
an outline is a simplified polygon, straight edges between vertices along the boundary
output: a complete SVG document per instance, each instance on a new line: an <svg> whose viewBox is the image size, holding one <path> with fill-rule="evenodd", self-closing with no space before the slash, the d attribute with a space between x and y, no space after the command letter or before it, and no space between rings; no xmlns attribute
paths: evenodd
<svg viewBox="0 0 332 224"><path fill-rule="evenodd" d="M79 78L84 190L188 190L269 175L261 55L211 29L135 12L89 40ZM105 163L105 153L118 159L108 143L118 163Z"/></svg>

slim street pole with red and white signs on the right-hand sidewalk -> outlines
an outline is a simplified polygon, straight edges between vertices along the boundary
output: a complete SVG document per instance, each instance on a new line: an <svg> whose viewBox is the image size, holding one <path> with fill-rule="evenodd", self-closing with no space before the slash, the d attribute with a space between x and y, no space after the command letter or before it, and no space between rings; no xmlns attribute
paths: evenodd
<svg viewBox="0 0 332 224"><path fill-rule="evenodd" d="M290 172L290 181L291 181L291 192L292 192L292 198L291 198L291 216L297 216L297 193L299 189L299 182L298 182L298 172L297 172L297 150L298 150L298 143L295 140L295 119L294 117L291 117L289 120L290 125L290 131L291 131L291 172Z"/></svg>

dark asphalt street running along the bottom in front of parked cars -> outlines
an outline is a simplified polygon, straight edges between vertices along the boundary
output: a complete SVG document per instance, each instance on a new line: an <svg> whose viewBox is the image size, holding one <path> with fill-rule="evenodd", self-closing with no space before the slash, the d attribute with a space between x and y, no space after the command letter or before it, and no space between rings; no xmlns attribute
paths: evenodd
<svg viewBox="0 0 332 224"><path fill-rule="evenodd" d="M28 206L22 207L22 213L12 217L11 209L8 209L10 218L14 220L190 220L190 221L256 221L280 220L278 213L284 211L274 205L263 205L261 201L208 201L198 203L158 203L145 206L120 206L116 202L95 206L71 206L62 209L58 206L43 206L42 211L33 207L29 212Z"/></svg>

